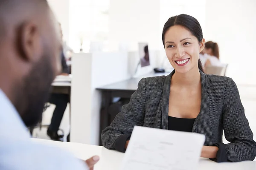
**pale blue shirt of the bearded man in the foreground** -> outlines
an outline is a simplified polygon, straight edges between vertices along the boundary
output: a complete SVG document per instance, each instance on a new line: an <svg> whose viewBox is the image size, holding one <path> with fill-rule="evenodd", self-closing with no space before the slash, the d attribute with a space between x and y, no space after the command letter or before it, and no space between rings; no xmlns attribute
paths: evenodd
<svg viewBox="0 0 256 170"><path fill-rule="evenodd" d="M0 170L87 170L70 153L29 138L20 115L0 89Z"/></svg>

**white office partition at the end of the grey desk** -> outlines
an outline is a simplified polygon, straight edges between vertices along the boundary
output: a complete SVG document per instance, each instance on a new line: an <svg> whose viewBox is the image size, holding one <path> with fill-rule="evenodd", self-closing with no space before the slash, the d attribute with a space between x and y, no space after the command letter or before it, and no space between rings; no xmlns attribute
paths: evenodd
<svg viewBox="0 0 256 170"><path fill-rule="evenodd" d="M131 78L128 53L77 53L72 59L70 141L99 144L101 95L95 89Z"/></svg>

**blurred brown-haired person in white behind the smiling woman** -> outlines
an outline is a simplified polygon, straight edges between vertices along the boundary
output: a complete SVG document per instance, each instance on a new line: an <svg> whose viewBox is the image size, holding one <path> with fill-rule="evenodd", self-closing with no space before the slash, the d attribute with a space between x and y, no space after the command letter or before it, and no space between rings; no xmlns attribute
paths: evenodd
<svg viewBox="0 0 256 170"><path fill-rule="evenodd" d="M200 54L200 59L204 67L209 65L221 66L222 63L220 62L219 57L218 44L212 41L205 42L205 48Z"/></svg>

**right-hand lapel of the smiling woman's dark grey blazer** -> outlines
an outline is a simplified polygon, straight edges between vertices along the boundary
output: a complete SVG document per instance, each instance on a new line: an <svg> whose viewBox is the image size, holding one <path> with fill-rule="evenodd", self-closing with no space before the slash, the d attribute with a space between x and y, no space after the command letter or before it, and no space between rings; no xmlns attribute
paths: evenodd
<svg viewBox="0 0 256 170"><path fill-rule="evenodd" d="M201 110L195 119L192 132L201 133L205 135L205 145L212 145L212 127L211 127L211 116L209 113L209 95L207 93L207 76L200 71L201 84L202 84L202 99L201 99Z"/></svg>

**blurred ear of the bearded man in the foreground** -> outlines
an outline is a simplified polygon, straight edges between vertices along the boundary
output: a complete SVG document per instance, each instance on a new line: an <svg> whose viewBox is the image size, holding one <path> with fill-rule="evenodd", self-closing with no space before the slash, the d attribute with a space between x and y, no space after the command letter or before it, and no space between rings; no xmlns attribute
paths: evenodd
<svg viewBox="0 0 256 170"><path fill-rule="evenodd" d="M38 27L32 23L23 23L17 31L17 48L26 61L36 61L41 54Z"/></svg>

